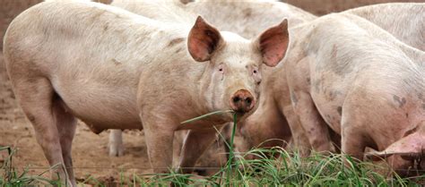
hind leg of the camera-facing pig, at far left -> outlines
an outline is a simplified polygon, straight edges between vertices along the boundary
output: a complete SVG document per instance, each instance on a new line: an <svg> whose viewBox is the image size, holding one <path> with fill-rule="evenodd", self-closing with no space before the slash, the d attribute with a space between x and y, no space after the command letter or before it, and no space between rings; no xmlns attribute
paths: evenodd
<svg viewBox="0 0 425 187"><path fill-rule="evenodd" d="M34 127L49 166L61 165L53 169L52 178L75 185L71 158L74 117L65 111L61 98L47 78L28 74L11 74L15 94ZM64 170L64 166L67 169Z"/></svg>

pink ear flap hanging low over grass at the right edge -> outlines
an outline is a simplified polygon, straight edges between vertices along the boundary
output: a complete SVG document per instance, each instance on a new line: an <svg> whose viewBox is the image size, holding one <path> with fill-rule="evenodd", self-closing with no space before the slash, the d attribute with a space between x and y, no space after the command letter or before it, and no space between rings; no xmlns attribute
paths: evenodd
<svg viewBox="0 0 425 187"><path fill-rule="evenodd" d="M414 132L400 140L395 141L383 151L366 153L366 157L377 161L386 157L401 156L406 160L414 160L424 158L425 151L425 136L420 132Z"/></svg>

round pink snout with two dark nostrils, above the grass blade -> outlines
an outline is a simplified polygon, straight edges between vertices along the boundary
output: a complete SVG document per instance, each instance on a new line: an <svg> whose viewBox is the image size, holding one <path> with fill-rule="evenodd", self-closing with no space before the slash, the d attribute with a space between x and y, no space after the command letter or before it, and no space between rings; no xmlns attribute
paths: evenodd
<svg viewBox="0 0 425 187"><path fill-rule="evenodd" d="M230 107L239 113L247 113L256 106L255 98L247 89L239 89L230 98Z"/></svg>

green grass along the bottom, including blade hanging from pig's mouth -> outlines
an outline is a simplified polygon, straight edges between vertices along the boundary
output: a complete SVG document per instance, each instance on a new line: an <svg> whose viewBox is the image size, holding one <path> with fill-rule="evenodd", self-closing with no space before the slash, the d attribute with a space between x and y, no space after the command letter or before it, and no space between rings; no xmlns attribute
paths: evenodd
<svg viewBox="0 0 425 187"><path fill-rule="evenodd" d="M231 112L231 111L224 111ZM214 113L220 115L224 112ZM185 123L199 120L203 115ZM236 115L234 115L236 122ZM230 145L236 123L232 131ZM232 148L232 147L230 147ZM4 163L0 163L0 187L23 186L28 184L53 184L39 175L30 175L26 170L18 173L12 165L14 150L7 151ZM235 157L230 149L230 160L221 170L209 177L195 174L120 174L115 176L117 186L421 186L425 175L402 178L395 173L388 173L387 166L377 166L369 162L360 162L341 154L312 153L310 157L299 157L298 153L290 153L282 148L251 149L242 156ZM245 159L254 156L256 159ZM46 171L48 172L48 171ZM79 183L80 186L90 183L93 186L107 186L108 183L88 177Z"/></svg>

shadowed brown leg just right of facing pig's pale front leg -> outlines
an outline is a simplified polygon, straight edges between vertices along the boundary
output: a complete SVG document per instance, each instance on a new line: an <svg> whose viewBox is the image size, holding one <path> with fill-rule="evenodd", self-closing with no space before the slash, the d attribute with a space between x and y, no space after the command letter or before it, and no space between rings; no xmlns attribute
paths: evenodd
<svg viewBox="0 0 425 187"><path fill-rule="evenodd" d="M194 171L196 160L201 157L217 137L217 130L190 130L181 151L178 172L190 174Z"/></svg>

